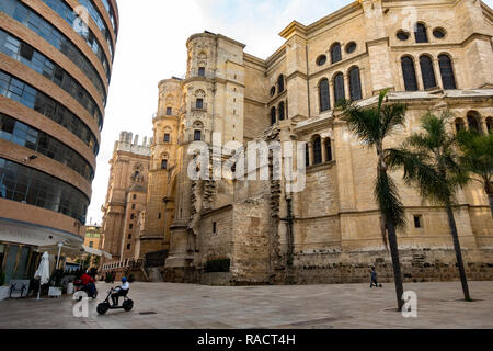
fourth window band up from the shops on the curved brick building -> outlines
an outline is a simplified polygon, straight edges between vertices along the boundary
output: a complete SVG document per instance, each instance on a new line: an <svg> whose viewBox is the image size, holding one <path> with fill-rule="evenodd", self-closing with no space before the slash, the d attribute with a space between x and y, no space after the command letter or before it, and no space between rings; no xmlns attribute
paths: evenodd
<svg viewBox="0 0 493 351"><path fill-rule="evenodd" d="M0 52L23 63L39 75L45 76L76 99L96 121L100 131L103 128L103 116L94 99L64 68L51 61L31 45L0 30Z"/></svg>

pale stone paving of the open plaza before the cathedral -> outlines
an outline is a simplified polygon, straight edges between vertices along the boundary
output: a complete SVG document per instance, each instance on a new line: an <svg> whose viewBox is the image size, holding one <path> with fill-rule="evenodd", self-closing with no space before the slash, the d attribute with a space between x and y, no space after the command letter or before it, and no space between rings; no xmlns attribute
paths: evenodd
<svg viewBox="0 0 493 351"><path fill-rule="evenodd" d="M367 284L309 286L211 287L134 283L131 313L98 316L107 284L98 284L88 318L72 315L72 302L9 299L0 302L0 329L388 329L493 328L493 282L470 282L475 302L460 301L459 282L411 283L419 297L417 318L395 312L393 284L370 290Z"/></svg>

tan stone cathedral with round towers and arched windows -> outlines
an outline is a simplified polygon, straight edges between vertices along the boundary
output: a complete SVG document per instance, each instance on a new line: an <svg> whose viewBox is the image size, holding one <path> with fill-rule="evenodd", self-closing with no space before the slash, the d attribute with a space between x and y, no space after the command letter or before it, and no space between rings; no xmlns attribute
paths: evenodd
<svg viewBox="0 0 493 351"><path fill-rule="evenodd" d="M371 106L389 89L387 102L406 104L386 147L420 132L427 112L450 111L450 133L490 133L493 11L478 0L360 0L279 35L267 59L221 34L188 38L184 78L159 82L150 143L123 133L115 145L103 272L311 284L366 282L376 267L392 280L377 152L348 132L337 102ZM267 148L252 165L255 145ZM404 281L457 279L446 210L402 172L392 177L408 223L398 231ZM493 218L479 183L459 191L455 215L468 279L493 279Z"/></svg>

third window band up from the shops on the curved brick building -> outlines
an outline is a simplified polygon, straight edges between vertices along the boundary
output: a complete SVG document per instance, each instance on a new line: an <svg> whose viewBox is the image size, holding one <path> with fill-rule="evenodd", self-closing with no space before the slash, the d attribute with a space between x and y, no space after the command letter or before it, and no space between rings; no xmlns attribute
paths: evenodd
<svg viewBox="0 0 493 351"><path fill-rule="evenodd" d="M15 100L47 116L81 139L98 155L99 145L91 129L70 110L45 93L0 70L0 95Z"/></svg>

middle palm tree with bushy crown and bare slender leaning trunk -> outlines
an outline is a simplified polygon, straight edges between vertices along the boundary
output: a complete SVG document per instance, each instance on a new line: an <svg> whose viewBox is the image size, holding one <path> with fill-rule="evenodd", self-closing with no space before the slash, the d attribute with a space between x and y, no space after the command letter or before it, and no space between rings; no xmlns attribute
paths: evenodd
<svg viewBox="0 0 493 351"><path fill-rule="evenodd" d="M470 301L452 210L456 192L467 184L468 177L459 162L457 137L446 131L450 116L449 112L440 117L424 115L421 123L424 133L412 134L399 148L388 150L386 160L392 169L404 169L404 181L417 186L423 199L446 206L463 296Z"/></svg>

